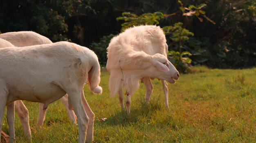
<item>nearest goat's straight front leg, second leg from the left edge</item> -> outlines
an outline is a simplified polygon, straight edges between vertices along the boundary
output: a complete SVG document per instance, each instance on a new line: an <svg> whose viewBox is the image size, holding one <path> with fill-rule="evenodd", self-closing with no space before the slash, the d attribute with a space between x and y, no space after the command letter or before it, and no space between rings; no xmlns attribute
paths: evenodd
<svg viewBox="0 0 256 143"><path fill-rule="evenodd" d="M7 106L7 123L9 125L10 130L10 143L15 143L15 131L14 131L14 108L15 108L15 102L11 102Z"/></svg>

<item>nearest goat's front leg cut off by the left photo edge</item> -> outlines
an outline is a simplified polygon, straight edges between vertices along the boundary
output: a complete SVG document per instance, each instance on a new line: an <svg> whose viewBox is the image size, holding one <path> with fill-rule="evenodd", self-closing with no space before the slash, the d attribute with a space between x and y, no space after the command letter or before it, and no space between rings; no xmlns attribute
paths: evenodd
<svg viewBox="0 0 256 143"><path fill-rule="evenodd" d="M6 83L0 79L0 130L2 130L2 122L3 122L3 116L4 116L4 110L8 98L9 90L6 86ZM1 136L0 136L0 142L1 142Z"/></svg>

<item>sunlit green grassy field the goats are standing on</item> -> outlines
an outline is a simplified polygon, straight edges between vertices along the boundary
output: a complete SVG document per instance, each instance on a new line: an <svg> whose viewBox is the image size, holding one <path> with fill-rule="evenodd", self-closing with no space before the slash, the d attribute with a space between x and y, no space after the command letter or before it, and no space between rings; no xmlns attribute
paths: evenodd
<svg viewBox="0 0 256 143"><path fill-rule="evenodd" d="M145 87L132 97L131 115L121 111L119 100L109 97L106 69L102 69L102 95L85 87L95 119L97 143L255 143L256 142L256 68L193 68L194 74L181 74L169 87L169 108L164 106L162 84L153 80L149 106L144 104ZM24 101L34 143L76 143L78 126L71 123L60 100L49 105L42 128L36 126L38 104ZM16 142L26 143L18 115ZM9 134L6 115L2 130Z"/></svg>

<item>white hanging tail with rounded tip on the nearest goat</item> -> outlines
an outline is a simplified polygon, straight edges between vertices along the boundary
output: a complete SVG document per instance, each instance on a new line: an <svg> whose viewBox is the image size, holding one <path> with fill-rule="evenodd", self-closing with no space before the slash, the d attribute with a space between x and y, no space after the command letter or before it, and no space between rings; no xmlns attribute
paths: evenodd
<svg viewBox="0 0 256 143"><path fill-rule="evenodd" d="M93 93L101 94L102 88L99 86L101 81L101 69L99 63L92 66L88 72L88 86Z"/></svg>

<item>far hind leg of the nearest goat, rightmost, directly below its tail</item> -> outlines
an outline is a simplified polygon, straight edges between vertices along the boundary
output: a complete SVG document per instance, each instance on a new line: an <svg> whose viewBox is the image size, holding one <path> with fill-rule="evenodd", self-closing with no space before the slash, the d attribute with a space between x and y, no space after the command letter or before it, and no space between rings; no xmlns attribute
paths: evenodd
<svg viewBox="0 0 256 143"><path fill-rule="evenodd" d="M85 108L85 112L89 117L89 123L88 123L88 128L87 128L87 131L86 131L85 142L92 143L93 142L94 113L92 112L89 104L87 103L83 91L82 91L82 97L81 98L82 98L83 106Z"/></svg>

